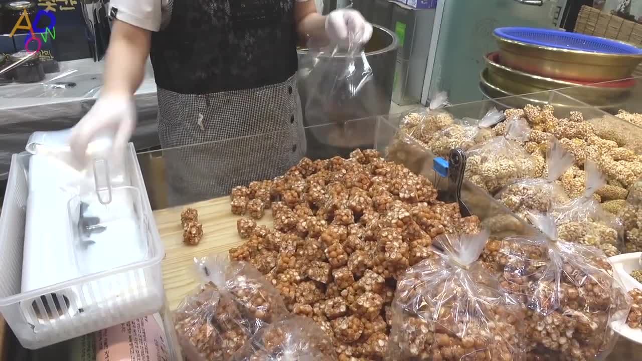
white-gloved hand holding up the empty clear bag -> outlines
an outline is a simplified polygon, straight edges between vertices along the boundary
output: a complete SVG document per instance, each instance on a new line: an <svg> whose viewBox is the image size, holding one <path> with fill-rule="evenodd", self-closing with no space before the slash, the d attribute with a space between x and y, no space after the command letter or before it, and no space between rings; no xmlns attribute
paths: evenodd
<svg viewBox="0 0 642 361"><path fill-rule="evenodd" d="M325 32L331 44L362 46L372 37L372 24L357 10L338 9L325 17Z"/></svg>

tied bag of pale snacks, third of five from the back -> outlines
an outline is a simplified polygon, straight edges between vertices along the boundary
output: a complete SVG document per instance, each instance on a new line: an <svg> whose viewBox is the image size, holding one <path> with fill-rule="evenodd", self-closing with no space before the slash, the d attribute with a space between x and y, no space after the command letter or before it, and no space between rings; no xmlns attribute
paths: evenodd
<svg viewBox="0 0 642 361"><path fill-rule="evenodd" d="M525 119L508 121L508 134L490 139L469 149L465 178L494 194L510 182L532 178L535 160L520 145L528 139L530 128Z"/></svg>

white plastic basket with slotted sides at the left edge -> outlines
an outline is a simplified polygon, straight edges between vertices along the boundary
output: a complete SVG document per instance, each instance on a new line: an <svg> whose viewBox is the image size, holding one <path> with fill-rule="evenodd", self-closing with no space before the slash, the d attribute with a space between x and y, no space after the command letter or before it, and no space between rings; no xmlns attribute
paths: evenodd
<svg viewBox="0 0 642 361"><path fill-rule="evenodd" d="M125 215L123 218L134 218L136 222L138 231L133 232L132 238L136 236L135 242L142 247L134 247L138 252L135 257L123 254L127 252L123 250L123 244L127 243L123 242L128 240L119 238L117 242L114 241L113 247L107 243L112 241L101 240L100 247L94 248L96 251L92 251L91 255L82 255L80 259L77 247L81 237L74 230L71 236L65 234L62 237L65 240L52 238L65 249L76 247L66 254L62 252L65 256L55 256L50 252L48 257L47 252L37 252L37 247L34 251L32 244L32 249L26 249L31 157L33 155L26 153L13 155L0 214L0 312L22 346L28 349L42 348L159 312L164 301L160 267L164 249L134 146L129 145L125 157L125 181L110 189L109 197L113 196L114 200L124 197L132 204L133 216ZM69 198L64 204L51 205L51 211L73 213L78 206L75 198L86 196L82 194ZM44 216L47 216L46 212L39 212L38 219ZM122 219L103 218L101 222L104 223L101 224L121 227L119 222ZM58 227L56 230L59 230ZM128 237L127 234L124 233L123 238ZM22 274L24 252L30 255L27 261L37 263L33 267L37 270L35 274ZM34 252L38 256L31 257ZM130 263L121 263L115 268L110 266L114 264L112 260L116 259ZM45 263L46 267L43 267ZM30 267L26 269L31 270ZM65 281L53 285L52 281L47 281L60 279L56 278L60 274L65 275ZM70 274L81 276L69 279Z"/></svg>

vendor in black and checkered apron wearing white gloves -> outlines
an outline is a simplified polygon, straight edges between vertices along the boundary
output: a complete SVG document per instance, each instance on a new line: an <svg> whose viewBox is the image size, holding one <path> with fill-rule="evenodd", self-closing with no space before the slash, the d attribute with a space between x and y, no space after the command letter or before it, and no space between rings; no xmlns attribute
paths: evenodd
<svg viewBox="0 0 642 361"><path fill-rule="evenodd" d="M356 10L322 16L313 0L111 4L105 85L73 128L71 148L86 163L88 143L114 134L112 154L123 152L151 55L171 205L225 195L296 164L306 152L297 43L365 44L372 35Z"/></svg>

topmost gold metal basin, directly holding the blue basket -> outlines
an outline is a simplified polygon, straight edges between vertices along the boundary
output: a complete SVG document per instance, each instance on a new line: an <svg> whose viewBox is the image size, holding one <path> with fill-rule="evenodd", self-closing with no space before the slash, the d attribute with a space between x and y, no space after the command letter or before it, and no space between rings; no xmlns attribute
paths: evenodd
<svg viewBox="0 0 642 361"><path fill-rule="evenodd" d="M629 78L642 55L592 53L551 48L493 35L505 66L526 73L582 82L607 82Z"/></svg>

